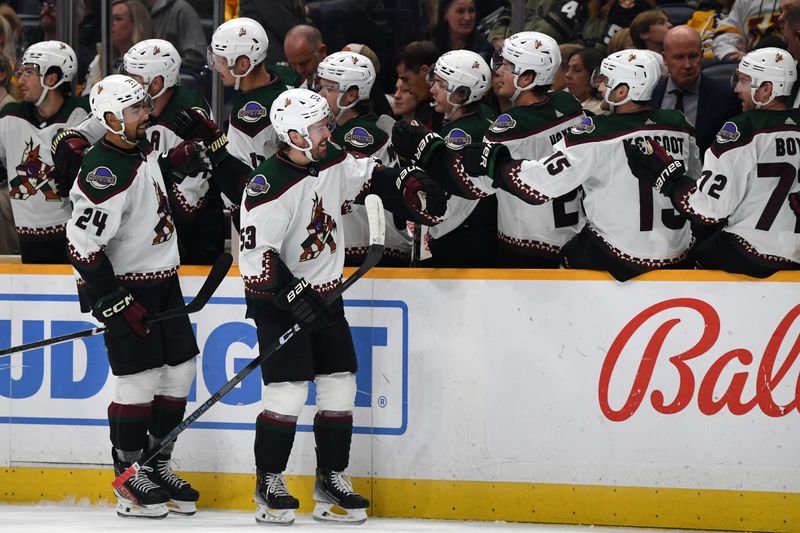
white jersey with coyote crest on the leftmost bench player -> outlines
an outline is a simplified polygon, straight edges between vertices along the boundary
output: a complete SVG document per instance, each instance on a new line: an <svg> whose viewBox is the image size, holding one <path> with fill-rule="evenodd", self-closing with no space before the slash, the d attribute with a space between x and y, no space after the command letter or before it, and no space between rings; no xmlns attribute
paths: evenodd
<svg viewBox="0 0 800 533"><path fill-rule="evenodd" d="M61 109L44 121L35 116L34 109L32 104L11 103L0 111L0 161L6 167L14 224L21 239L63 236L72 208L49 177L53 168L50 143L59 131L88 115L86 102L75 97L67 97Z"/></svg>

